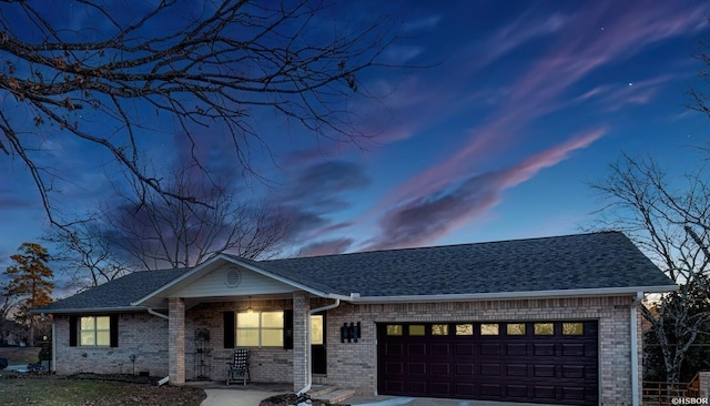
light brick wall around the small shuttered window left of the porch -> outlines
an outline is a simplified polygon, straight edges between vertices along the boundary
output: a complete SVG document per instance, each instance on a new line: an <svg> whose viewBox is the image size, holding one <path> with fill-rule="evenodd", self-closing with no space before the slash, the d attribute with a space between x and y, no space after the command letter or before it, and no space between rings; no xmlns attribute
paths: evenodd
<svg viewBox="0 0 710 406"><path fill-rule="evenodd" d="M168 375L168 321L148 313L119 315L119 346L69 346L69 316L55 315L54 348L57 373L133 373L129 355L134 354L135 372Z"/></svg>

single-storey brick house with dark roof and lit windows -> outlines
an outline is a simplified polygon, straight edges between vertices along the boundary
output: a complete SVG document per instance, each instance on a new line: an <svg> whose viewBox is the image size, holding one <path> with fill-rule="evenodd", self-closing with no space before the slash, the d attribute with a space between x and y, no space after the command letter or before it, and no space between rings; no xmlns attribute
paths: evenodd
<svg viewBox="0 0 710 406"><path fill-rule="evenodd" d="M275 261L222 254L52 303L54 368L366 394L638 404L645 293L677 286L622 233Z"/></svg>

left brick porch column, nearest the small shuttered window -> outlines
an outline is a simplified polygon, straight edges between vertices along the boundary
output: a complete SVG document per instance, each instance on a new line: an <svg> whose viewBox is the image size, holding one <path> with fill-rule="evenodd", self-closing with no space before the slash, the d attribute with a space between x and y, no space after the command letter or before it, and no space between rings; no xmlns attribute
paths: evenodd
<svg viewBox="0 0 710 406"><path fill-rule="evenodd" d="M168 301L168 372L170 383L185 383L185 300L171 297Z"/></svg>

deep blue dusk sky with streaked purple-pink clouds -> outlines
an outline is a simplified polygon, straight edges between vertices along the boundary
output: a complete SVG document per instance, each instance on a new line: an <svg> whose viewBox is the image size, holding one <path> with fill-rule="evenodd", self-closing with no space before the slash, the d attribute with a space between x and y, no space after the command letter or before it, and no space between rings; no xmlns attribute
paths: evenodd
<svg viewBox="0 0 710 406"><path fill-rule="evenodd" d="M622 152L655 156L680 173L692 163L692 146L709 140L708 120L687 109L686 92L703 68L692 54L709 33L710 2L398 7L399 40L383 58L415 68L358 78L368 97L354 98L348 109L372 134L367 142L314 141L255 114L271 149L268 156L255 155L255 165L268 182L250 182L245 191L278 203L292 225L292 252L577 233L592 226L602 204L589 182L604 179ZM332 12L372 11L365 9ZM64 207L90 210L111 199L112 166L101 154L61 135L48 140L53 146L39 159L71 180L57 197ZM161 143L146 144L160 156ZM223 149L209 136L204 145ZM0 155L0 171L4 268L48 222L22 163Z"/></svg>

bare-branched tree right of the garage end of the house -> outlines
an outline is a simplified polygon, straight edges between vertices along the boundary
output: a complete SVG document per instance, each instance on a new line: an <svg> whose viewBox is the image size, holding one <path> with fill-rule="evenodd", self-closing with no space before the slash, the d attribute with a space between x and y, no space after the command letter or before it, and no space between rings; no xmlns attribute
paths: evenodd
<svg viewBox="0 0 710 406"><path fill-rule="evenodd" d="M592 184L607 205L602 227L625 231L678 285L642 306L661 352L666 380L677 383L692 345L710 329L710 185L703 168L673 187L652 160L623 154Z"/></svg>

